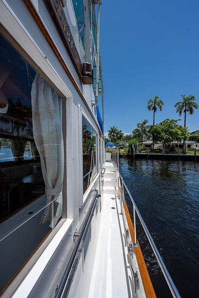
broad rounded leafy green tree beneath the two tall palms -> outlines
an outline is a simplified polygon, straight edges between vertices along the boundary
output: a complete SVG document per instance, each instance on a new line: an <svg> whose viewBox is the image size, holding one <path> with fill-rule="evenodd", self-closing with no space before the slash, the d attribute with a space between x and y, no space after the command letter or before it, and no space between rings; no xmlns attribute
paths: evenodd
<svg viewBox="0 0 199 298"><path fill-rule="evenodd" d="M163 148L171 142L181 142L183 139L189 138L189 131L187 127L179 125L179 120L165 119L164 121L151 126L149 132L153 135L154 143L163 143Z"/></svg>

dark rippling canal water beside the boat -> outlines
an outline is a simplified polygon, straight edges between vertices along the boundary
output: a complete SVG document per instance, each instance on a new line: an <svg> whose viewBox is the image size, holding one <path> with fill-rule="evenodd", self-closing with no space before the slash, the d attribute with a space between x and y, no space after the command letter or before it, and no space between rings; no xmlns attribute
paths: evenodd
<svg viewBox="0 0 199 298"><path fill-rule="evenodd" d="M199 163L123 157L119 170L181 297L199 297ZM170 297L141 224L137 228L156 295Z"/></svg>

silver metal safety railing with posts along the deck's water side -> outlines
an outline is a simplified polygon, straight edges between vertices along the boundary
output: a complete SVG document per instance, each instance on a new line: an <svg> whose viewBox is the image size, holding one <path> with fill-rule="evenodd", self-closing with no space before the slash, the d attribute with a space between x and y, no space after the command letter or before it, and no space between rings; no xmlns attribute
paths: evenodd
<svg viewBox="0 0 199 298"><path fill-rule="evenodd" d="M169 286L169 289L171 291L171 294L175 298L180 298L180 294L179 294L179 292L178 292L178 290L177 290L177 288L176 288L176 286L175 286L175 284L174 284L174 282L173 282L173 280L172 280L172 278L171 278L171 276L169 274L169 271L167 270L167 267L166 267L166 265L165 265L165 263L164 263L161 255L160 255L160 253L159 253L159 251L158 251L158 249L157 249L157 247L156 247L156 245L155 245L155 243L153 241L153 238L152 238L152 236L151 236L151 234L150 234L150 232L149 232L146 224L144 223L144 220L143 220L143 218L142 218L142 216L141 216L141 214L140 214L140 212L139 212L139 210L138 210L138 208L137 208L137 206L136 206L136 204L135 204L135 202L134 202L134 200L133 200L133 198L132 198L132 196L130 194L130 191L129 191L128 187L126 186L126 184L125 184L125 182L124 182L121 174L119 173L119 167L118 167L118 163L119 163L119 150L115 150L115 152L112 154L112 157L113 157L112 158L112 161L113 161L114 165L117 168L118 176L119 176L119 179L120 179L120 186L121 186L121 198L120 198L120 201L121 201L121 214L122 214L122 204L124 204L124 202L125 202L125 200L124 200L124 188L126 189L128 195L129 195L129 198L131 200L131 203L133 205L133 226L134 226L134 243L133 243L133 245L134 245L135 249L136 249L136 247L138 247L138 243L137 243L137 230L136 230L136 216L137 216L139 218L140 223L141 223L141 225L142 225L142 227L144 229L144 232L145 232L145 234L146 234L146 236L147 236L147 238L149 240L149 243L151 245L151 248L152 248L152 250L154 252L154 255L155 255L155 257L156 257L156 259L158 261L158 264L159 264L159 266L161 268L161 271L162 271L162 273L163 273L163 275L165 277L165 280L166 280L166 282L167 282L167 284ZM123 196L123 198L122 198L122 196Z"/></svg>

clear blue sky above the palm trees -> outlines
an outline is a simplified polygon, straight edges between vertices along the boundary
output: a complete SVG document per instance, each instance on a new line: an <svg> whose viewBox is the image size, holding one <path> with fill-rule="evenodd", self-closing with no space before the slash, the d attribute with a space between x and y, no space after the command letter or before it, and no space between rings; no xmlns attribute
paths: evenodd
<svg viewBox="0 0 199 298"><path fill-rule="evenodd" d="M102 0L100 53L104 81L104 127L132 132L152 124L147 100L164 101L156 122L179 119L174 104L182 94L199 103L199 0ZM199 110L188 115L199 129Z"/></svg>

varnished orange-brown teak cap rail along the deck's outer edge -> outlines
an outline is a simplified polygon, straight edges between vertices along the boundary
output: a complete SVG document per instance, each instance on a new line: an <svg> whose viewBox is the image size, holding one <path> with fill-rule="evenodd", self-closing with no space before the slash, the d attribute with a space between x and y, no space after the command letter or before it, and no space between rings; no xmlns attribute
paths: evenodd
<svg viewBox="0 0 199 298"><path fill-rule="evenodd" d="M128 207L127 207L126 204L124 204L123 207L124 207L124 211L125 211L126 220L127 220L127 223L128 223L128 228L129 228L129 231L130 231L131 239L134 242L135 241L134 227L133 227L133 224L132 224L132 221L131 221L131 218L130 218ZM135 251L135 255L136 255L140 275L141 275L141 278L142 278L142 283L143 283L146 298L156 298L155 291L153 289L153 285L151 283L151 279L150 279L148 270L146 268L146 264L145 264L145 261L144 261L144 258L143 258L142 251L141 251L139 243L138 243L138 247L134 248L134 251Z"/></svg>

